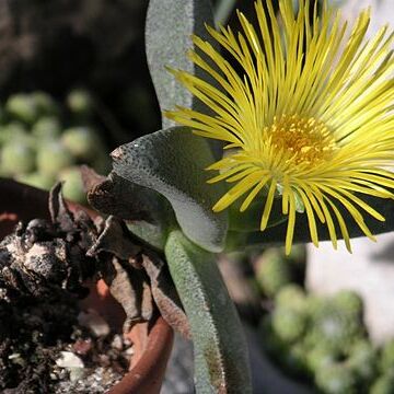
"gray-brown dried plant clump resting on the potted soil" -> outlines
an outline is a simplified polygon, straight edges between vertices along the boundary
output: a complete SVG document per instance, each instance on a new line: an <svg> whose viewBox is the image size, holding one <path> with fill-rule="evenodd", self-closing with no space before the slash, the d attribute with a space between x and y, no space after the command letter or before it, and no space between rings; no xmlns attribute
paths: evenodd
<svg viewBox="0 0 394 394"><path fill-rule="evenodd" d="M100 229L88 216L72 216L60 188L50 195L51 222L20 222L0 243L0 288L9 297L43 297L55 290L86 294L82 283L96 273L96 259L86 250Z"/></svg>

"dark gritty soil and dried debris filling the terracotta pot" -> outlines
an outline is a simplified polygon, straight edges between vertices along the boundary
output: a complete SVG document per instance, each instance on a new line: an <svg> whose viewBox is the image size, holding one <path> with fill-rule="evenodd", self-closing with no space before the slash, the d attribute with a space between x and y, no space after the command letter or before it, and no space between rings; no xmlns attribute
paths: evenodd
<svg viewBox="0 0 394 394"><path fill-rule="evenodd" d="M49 195L50 221L19 222L0 242L2 394L104 393L132 355L103 316L80 306L88 279L102 278L99 266L111 270L115 257L86 255L103 222L71 213L60 190L59 184Z"/></svg>

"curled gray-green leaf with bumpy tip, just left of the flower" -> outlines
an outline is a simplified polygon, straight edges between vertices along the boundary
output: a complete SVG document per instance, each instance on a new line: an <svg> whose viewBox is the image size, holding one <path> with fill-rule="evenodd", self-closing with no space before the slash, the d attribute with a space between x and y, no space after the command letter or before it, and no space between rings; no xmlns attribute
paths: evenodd
<svg viewBox="0 0 394 394"><path fill-rule="evenodd" d="M112 157L117 175L167 198L192 241L210 252L223 248L227 212L215 213L212 206L224 190L207 184L210 174L204 169L215 160L204 138L173 127L120 146Z"/></svg>

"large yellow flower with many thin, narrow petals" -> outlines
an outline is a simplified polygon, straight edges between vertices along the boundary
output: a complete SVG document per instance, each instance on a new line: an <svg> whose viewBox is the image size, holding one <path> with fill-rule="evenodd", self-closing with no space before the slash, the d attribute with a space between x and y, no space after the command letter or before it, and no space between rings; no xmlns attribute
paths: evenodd
<svg viewBox="0 0 394 394"><path fill-rule="evenodd" d="M349 252L344 210L374 240L366 213L384 218L362 196L394 197L393 34L384 26L364 39L369 10L350 32L339 12L309 0L296 12L280 0L277 19L271 0L255 3L256 27L239 12L242 32L230 27L209 34L230 55L230 63L208 42L194 37L190 59L221 86L184 71L176 78L210 109L185 107L166 116L199 136L224 141L219 170L210 182L234 184L212 207L228 208L244 196L241 211L262 199L260 230L267 227L274 198L288 216L286 250L290 252L297 212L308 217L312 242L316 222L327 227L334 247L340 231ZM348 34L350 33L350 34ZM237 72L235 67L241 69ZM390 201L392 204L392 201ZM299 207L302 207L300 209ZM264 207L264 208L263 208Z"/></svg>

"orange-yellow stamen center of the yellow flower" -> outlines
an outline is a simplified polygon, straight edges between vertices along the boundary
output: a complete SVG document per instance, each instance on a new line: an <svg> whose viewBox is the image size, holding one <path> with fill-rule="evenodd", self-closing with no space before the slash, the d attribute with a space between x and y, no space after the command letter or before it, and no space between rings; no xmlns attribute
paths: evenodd
<svg viewBox="0 0 394 394"><path fill-rule="evenodd" d="M335 138L327 126L314 117L274 117L274 124L266 131L275 149L288 153L287 161L297 164L318 164L329 159L336 149Z"/></svg>

